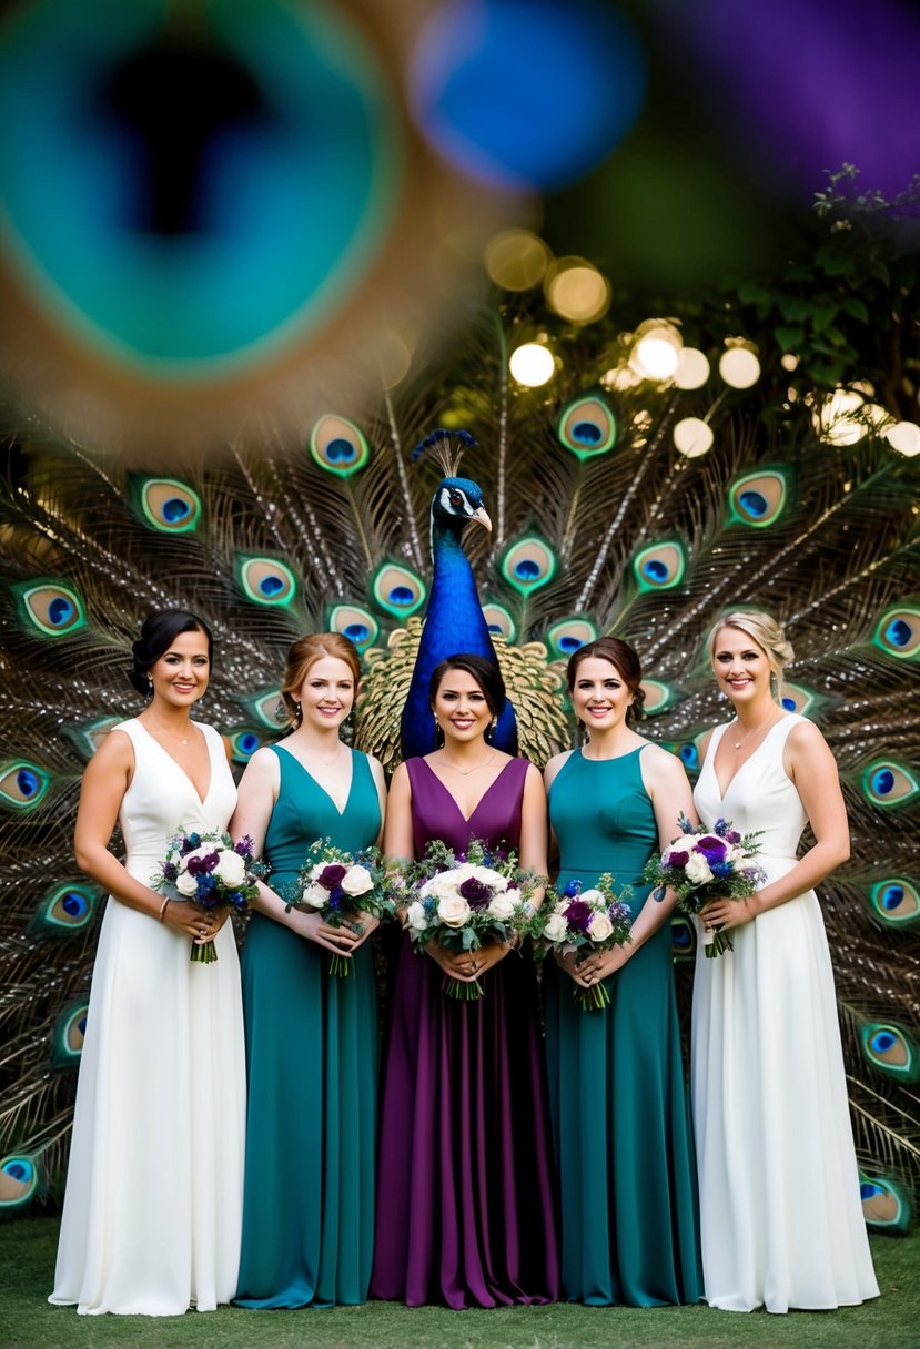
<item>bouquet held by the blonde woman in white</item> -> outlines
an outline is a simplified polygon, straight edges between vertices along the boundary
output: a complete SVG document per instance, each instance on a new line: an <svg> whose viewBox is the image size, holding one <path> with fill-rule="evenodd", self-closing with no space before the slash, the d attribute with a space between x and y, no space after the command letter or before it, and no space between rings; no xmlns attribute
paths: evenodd
<svg viewBox="0 0 920 1349"><path fill-rule="evenodd" d="M677 823L681 834L660 858L649 858L642 880L676 890L681 913L697 915L710 900L720 896L746 900L766 881L764 867L745 865L757 855L762 830L742 838L730 820L716 820L711 830L691 824L685 815L680 815ZM731 938L720 929L704 932L703 946L711 959L734 951Z"/></svg>

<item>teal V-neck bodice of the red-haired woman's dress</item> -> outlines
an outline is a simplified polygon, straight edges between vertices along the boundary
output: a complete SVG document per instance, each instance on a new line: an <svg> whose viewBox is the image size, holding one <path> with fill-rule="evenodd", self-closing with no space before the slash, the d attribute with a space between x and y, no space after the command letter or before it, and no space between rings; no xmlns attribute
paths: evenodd
<svg viewBox="0 0 920 1349"><path fill-rule="evenodd" d="M344 811L322 784L286 749L272 745L281 781L266 831L264 861L272 869L272 886L293 881L312 843L329 839L335 847L355 853L376 842L380 803L367 754L349 750L352 780Z"/></svg>

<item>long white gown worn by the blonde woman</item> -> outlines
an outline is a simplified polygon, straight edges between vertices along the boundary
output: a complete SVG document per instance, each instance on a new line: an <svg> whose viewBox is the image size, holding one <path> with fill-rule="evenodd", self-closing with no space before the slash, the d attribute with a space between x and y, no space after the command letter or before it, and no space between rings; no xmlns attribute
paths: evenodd
<svg viewBox="0 0 920 1349"><path fill-rule="evenodd" d="M792 870L807 817L778 722L732 778L715 730L693 799L704 824L764 830L768 880ZM731 929L693 985L692 1094L703 1278L728 1311L828 1309L878 1295L859 1199L834 973L813 890Z"/></svg>

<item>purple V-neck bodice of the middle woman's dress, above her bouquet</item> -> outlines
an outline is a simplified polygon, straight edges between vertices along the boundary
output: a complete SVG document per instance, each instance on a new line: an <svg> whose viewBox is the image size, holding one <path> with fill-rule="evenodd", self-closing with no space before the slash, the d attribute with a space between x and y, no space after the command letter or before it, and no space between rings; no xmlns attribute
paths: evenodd
<svg viewBox="0 0 920 1349"><path fill-rule="evenodd" d="M411 785L413 839L415 857L422 857L432 839L441 839L456 851L465 851L471 839L487 847L521 843L521 804L527 759L509 759L486 788L467 819L449 788L422 758L406 759Z"/></svg>

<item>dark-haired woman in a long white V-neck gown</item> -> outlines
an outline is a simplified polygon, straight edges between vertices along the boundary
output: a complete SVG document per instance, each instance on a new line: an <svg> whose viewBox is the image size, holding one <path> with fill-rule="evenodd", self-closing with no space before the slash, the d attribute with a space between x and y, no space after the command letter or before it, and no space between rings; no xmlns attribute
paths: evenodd
<svg viewBox="0 0 920 1349"><path fill-rule="evenodd" d="M236 804L224 742L190 720L208 687L210 633L151 614L134 646L150 704L84 774L80 866L111 892L80 1066L50 1302L150 1317L213 1310L236 1288L246 1067L240 970L225 913L147 884L177 827L225 830ZM116 817L124 865L108 850ZM193 963L192 942L219 959Z"/></svg>

